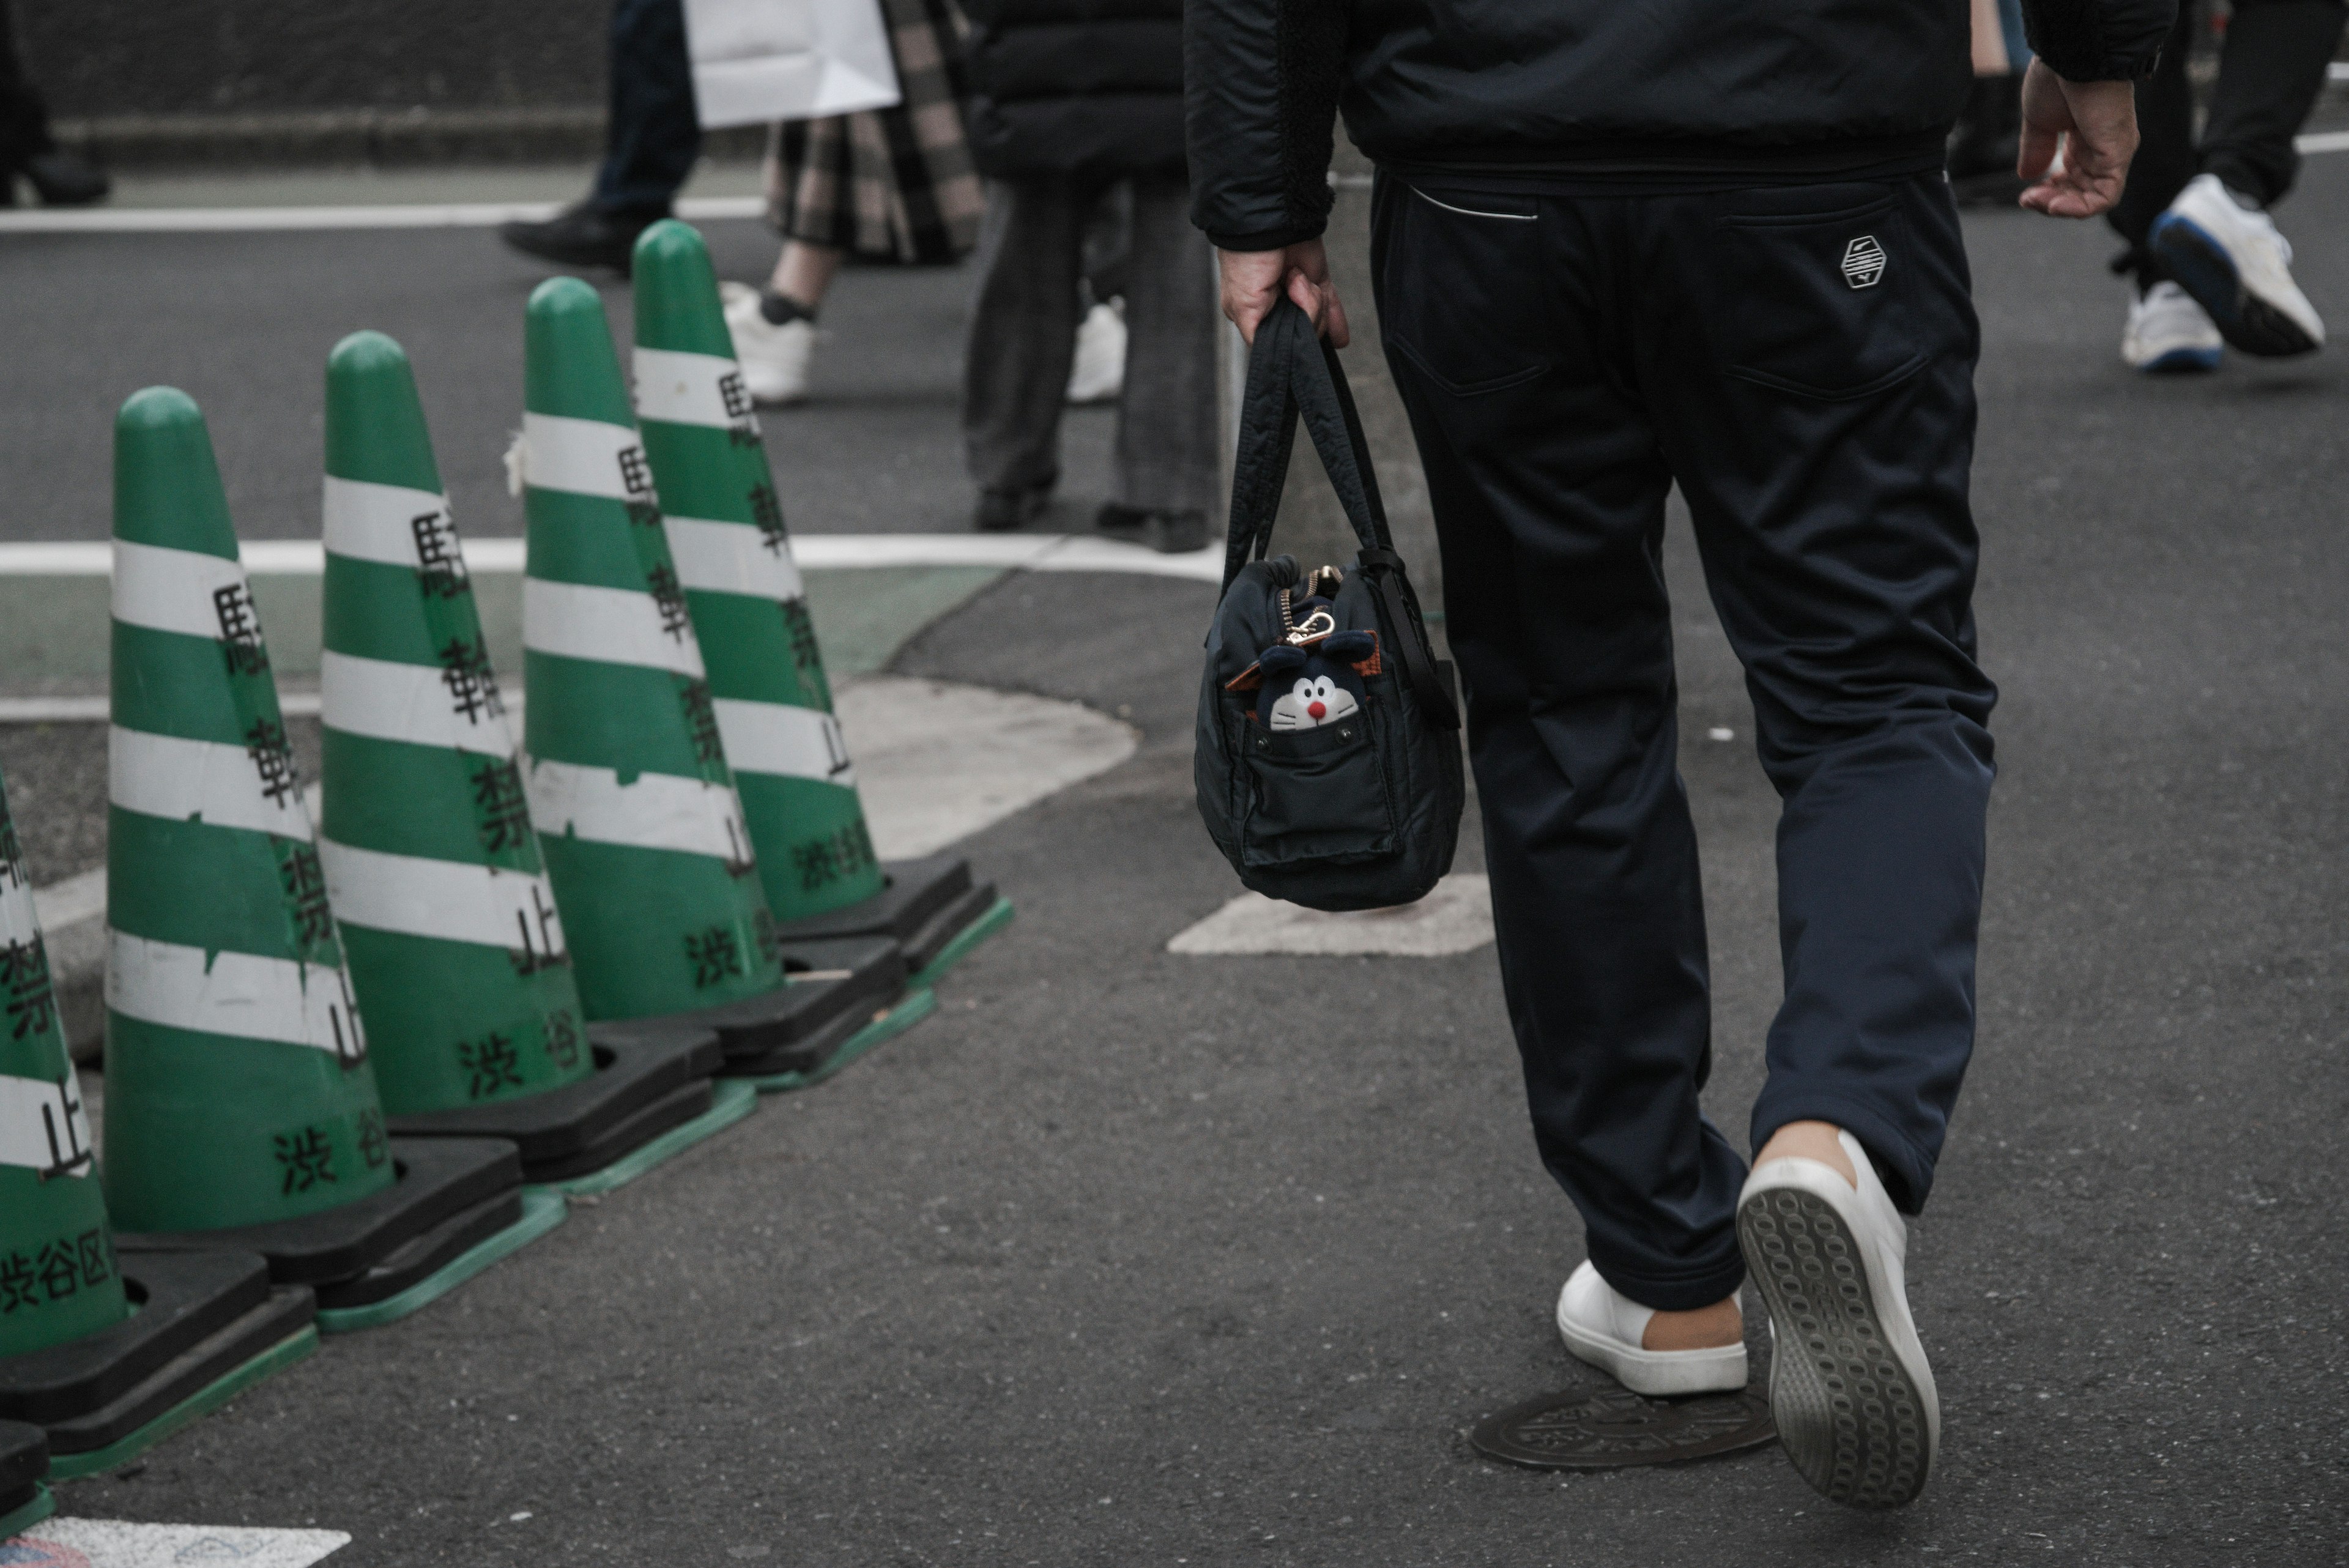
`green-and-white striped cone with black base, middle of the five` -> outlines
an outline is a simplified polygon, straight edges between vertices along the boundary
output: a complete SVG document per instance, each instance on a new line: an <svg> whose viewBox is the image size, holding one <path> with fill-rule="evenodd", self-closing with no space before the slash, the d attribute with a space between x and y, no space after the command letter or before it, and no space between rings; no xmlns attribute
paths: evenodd
<svg viewBox="0 0 2349 1568"><path fill-rule="evenodd" d="M705 1114L693 1039L590 1048L416 378L381 331L327 360L324 538L319 856L392 1133L510 1138L538 1182Z"/></svg>

